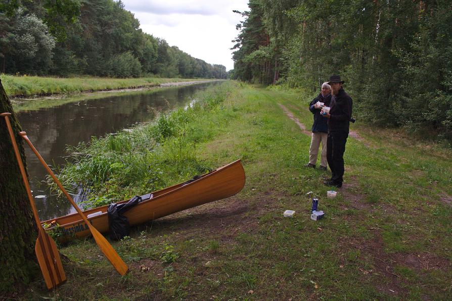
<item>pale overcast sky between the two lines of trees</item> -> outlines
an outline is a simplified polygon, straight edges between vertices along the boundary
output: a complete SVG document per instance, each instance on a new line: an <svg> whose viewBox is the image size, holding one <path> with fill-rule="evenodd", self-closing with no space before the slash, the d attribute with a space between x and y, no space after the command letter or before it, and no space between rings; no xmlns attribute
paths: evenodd
<svg viewBox="0 0 452 301"><path fill-rule="evenodd" d="M248 10L248 0L122 0L124 9L140 20L141 29L165 39L192 57L226 70L234 68L232 40Z"/></svg>

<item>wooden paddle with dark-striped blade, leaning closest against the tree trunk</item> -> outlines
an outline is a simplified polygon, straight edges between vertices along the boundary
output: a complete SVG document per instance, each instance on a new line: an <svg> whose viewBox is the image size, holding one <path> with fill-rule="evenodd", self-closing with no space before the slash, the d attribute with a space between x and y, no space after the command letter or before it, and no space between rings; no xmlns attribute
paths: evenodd
<svg viewBox="0 0 452 301"><path fill-rule="evenodd" d="M33 211L34 220L36 221L36 226L38 229L38 237L34 246L34 252L36 253L39 267L41 268L42 276L44 276L44 281L46 281L47 288L52 289L65 282L66 275L64 274L63 264L61 263L57 244L49 236L49 234L46 233L44 228L42 228L41 222L39 221L36 205L34 204L34 199L31 195L27 174L25 173L25 168L19 154L19 148L17 147L13 128L11 127L10 120L8 119L8 116L10 115L11 113L0 114L0 116L5 117L8 132L11 137L11 142L13 143L17 164L19 165L20 173L22 174L22 179L24 181L25 189L27 190L28 199L30 200L31 210Z"/></svg>

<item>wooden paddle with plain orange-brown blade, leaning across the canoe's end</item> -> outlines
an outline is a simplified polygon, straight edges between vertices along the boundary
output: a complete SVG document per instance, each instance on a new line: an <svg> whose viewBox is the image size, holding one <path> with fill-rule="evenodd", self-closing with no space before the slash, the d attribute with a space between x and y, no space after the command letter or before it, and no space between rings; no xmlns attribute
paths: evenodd
<svg viewBox="0 0 452 301"><path fill-rule="evenodd" d="M52 176L55 183L57 183L58 187L60 187L61 191L63 191L64 195L67 197L69 202L71 202L72 206L75 208L75 210L78 212L78 214L81 216L83 221L86 223L86 225L89 228L89 231L91 231L91 234L93 234L94 239L96 240L96 243L98 244L101 251L104 253L105 257L110 261L110 263L115 267L115 269L118 271L119 274L125 275L127 273L127 266L122 261L122 259L119 257L119 255L116 253L115 249L112 247L112 245L105 239L105 237L99 233L99 231L87 220L86 216L81 212L80 208L78 208L77 204L75 204L72 197L67 193L66 189L64 189L63 185L61 185L60 181L57 179L55 174L52 172L52 170L49 168L47 163L42 159L41 155L37 152L36 148L34 148L33 144L31 144L30 139L28 139L27 134L25 132L20 132L19 135L27 141L28 145L30 146L31 150L33 150L33 153L36 155L36 157L39 159L41 164L47 169L47 172Z"/></svg>

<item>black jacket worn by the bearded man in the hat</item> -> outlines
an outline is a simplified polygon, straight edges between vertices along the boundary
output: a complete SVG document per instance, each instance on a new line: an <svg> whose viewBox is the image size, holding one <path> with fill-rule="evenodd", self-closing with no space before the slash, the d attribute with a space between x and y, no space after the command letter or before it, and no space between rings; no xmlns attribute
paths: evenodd
<svg viewBox="0 0 452 301"><path fill-rule="evenodd" d="M346 131L348 133L353 101L341 87L337 95L331 98L330 120L328 130L330 132Z"/></svg>

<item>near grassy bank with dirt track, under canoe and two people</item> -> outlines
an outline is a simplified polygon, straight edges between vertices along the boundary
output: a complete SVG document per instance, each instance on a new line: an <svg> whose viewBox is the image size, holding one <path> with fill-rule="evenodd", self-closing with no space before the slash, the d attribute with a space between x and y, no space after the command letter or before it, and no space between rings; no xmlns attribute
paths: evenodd
<svg viewBox="0 0 452 301"><path fill-rule="evenodd" d="M130 268L123 277L92 239L61 248L68 281L48 293L38 280L22 298L452 298L450 150L354 124L344 186L328 199L329 172L303 168L310 137L284 111L309 128L310 95L228 82L198 99L80 146L78 168L61 177L122 198L242 158L243 191L114 242ZM317 222L312 195L326 213ZM287 209L293 218L283 217Z"/></svg>

